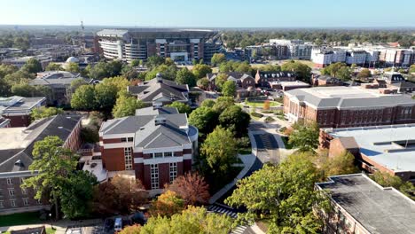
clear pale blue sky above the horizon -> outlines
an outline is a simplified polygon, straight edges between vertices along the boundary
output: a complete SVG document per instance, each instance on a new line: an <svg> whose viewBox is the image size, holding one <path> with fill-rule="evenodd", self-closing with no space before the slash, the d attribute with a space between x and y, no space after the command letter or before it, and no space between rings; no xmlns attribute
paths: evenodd
<svg viewBox="0 0 415 234"><path fill-rule="evenodd" d="M0 0L2 25L415 27L415 0Z"/></svg>

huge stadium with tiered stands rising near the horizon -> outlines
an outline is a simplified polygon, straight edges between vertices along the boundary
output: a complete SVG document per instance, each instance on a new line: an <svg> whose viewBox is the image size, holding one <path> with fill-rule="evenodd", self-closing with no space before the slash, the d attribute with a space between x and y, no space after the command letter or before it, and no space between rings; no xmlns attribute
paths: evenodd
<svg viewBox="0 0 415 234"><path fill-rule="evenodd" d="M97 33L106 58L127 62L153 55L180 62L210 61L212 50L218 49L211 41L216 34L212 30L174 28L104 29Z"/></svg>

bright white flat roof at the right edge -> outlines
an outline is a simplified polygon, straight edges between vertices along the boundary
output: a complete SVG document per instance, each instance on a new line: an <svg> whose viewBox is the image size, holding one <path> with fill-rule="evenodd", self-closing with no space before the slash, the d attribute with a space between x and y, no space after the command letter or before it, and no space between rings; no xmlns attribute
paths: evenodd
<svg viewBox="0 0 415 234"><path fill-rule="evenodd" d="M385 168L415 171L415 124L323 130L333 138L354 138L364 156Z"/></svg>

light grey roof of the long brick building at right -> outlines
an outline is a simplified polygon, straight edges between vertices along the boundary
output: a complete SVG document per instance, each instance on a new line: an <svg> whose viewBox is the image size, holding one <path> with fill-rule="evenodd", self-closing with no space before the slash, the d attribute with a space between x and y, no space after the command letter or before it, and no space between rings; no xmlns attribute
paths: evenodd
<svg viewBox="0 0 415 234"><path fill-rule="evenodd" d="M297 99L317 109L368 108L379 106L415 105L415 100L405 95L380 94L379 90L359 87L314 87L286 91L291 100Z"/></svg>

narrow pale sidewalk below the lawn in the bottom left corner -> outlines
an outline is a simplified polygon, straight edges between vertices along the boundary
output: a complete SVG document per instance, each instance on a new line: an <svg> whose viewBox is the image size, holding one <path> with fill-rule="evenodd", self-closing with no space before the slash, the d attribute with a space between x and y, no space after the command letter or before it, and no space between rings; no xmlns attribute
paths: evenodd
<svg viewBox="0 0 415 234"><path fill-rule="evenodd" d="M90 220L82 220L82 221L60 220L59 222L52 222L52 226L56 230L55 232L56 234L64 234L67 230L67 227L90 226L90 225L95 225L98 223L103 223L103 221L101 219L90 219ZM51 222L0 227L0 231L4 232L4 231L11 231L11 230L25 230L29 228L37 228L40 226L45 226L45 228L51 228Z"/></svg>

